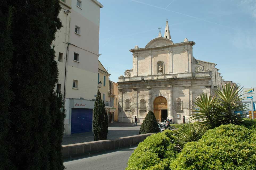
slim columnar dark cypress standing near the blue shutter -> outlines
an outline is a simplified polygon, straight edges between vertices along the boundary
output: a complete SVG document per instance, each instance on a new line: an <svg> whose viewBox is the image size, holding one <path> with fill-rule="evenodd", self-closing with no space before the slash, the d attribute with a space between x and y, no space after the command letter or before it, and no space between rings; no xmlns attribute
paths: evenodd
<svg viewBox="0 0 256 170"><path fill-rule="evenodd" d="M108 115L105 110L104 101L101 100L101 94L98 90L96 101L94 103L94 113L93 113L94 141L107 139L107 135L108 135Z"/></svg>

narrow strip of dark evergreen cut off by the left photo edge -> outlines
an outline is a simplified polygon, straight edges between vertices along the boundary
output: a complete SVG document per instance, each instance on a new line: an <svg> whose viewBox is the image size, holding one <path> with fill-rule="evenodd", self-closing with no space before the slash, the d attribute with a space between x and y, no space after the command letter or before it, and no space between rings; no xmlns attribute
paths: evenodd
<svg viewBox="0 0 256 170"><path fill-rule="evenodd" d="M13 155L13 147L6 136L9 135L9 103L13 93L10 88L13 54L12 44L12 20L13 8L6 3L0 3L0 169L14 169L10 160Z"/></svg>

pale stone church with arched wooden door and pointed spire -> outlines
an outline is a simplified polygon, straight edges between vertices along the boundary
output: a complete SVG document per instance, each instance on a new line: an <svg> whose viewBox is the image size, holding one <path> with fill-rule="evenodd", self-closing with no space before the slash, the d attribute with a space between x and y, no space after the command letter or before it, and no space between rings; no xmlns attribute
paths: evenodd
<svg viewBox="0 0 256 170"><path fill-rule="evenodd" d="M161 27L160 27L161 28ZM131 49L133 66L118 78L118 121L142 122L149 111L157 121L182 123L190 118L192 101L201 93L221 88L223 79L215 63L193 56L194 41L171 40L168 21L158 37L144 48Z"/></svg>

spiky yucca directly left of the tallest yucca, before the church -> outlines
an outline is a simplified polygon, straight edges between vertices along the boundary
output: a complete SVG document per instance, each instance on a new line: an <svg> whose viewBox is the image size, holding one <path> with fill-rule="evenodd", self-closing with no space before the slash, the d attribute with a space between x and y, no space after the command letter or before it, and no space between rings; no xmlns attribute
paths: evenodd
<svg viewBox="0 0 256 170"><path fill-rule="evenodd" d="M200 97L193 101L195 109L191 109L194 113L191 114L190 120L199 120L198 125L209 129L219 126L219 111L215 108L216 104L217 99L211 94L200 94Z"/></svg>

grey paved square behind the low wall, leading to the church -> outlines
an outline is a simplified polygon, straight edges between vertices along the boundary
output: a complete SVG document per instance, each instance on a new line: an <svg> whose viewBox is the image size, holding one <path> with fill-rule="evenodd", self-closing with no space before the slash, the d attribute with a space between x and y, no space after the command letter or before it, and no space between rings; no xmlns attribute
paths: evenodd
<svg viewBox="0 0 256 170"><path fill-rule="evenodd" d="M110 123L108 124L107 139L115 139L120 137L138 135L141 123L137 126L131 123ZM83 143L94 141L93 132L76 133L71 135L64 135L62 138L62 145L69 145L74 143Z"/></svg>

